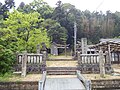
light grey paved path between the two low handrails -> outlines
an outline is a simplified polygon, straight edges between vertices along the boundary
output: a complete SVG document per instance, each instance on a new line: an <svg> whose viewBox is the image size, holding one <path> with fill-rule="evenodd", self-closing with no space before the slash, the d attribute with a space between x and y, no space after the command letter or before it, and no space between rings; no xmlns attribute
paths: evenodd
<svg viewBox="0 0 120 90"><path fill-rule="evenodd" d="M45 90L85 90L83 84L76 77L47 78Z"/></svg>

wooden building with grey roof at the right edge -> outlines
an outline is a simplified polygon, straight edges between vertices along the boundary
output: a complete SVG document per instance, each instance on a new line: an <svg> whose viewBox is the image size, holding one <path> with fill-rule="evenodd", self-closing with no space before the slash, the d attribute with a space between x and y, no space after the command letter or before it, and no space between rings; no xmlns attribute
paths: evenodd
<svg viewBox="0 0 120 90"><path fill-rule="evenodd" d="M108 39L96 44L90 49L108 51L111 64L120 64L120 39Z"/></svg>

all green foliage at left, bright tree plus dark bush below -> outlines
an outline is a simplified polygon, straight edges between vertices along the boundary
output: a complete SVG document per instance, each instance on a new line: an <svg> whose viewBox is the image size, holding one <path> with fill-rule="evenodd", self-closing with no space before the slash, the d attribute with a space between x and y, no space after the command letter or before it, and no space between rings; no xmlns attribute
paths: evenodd
<svg viewBox="0 0 120 90"><path fill-rule="evenodd" d="M49 47L46 29L38 27L44 21L37 12L25 14L14 10L0 27L0 73L12 69L15 52L36 52L36 45L44 42ZM13 53L14 52L14 53Z"/></svg>

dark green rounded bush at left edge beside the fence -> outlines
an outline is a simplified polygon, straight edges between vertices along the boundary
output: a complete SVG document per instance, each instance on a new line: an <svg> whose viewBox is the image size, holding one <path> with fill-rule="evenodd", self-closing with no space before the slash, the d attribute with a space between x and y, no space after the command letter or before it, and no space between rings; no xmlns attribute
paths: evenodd
<svg viewBox="0 0 120 90"><path fill-rule="evenodd" d="M0 45L0 74L10 72L15 61L15 54L10 50Z"/></svg>

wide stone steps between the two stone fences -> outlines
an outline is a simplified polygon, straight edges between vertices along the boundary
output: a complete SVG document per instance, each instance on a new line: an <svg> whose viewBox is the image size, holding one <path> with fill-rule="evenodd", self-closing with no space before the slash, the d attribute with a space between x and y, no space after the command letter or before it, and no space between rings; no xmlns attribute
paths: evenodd
<svg viewBox="0 0 120 90"><path fill-rule="evenodd" d="M46 62L48 75L75 75L78 62L72 58L49 59Z"/></svg>

